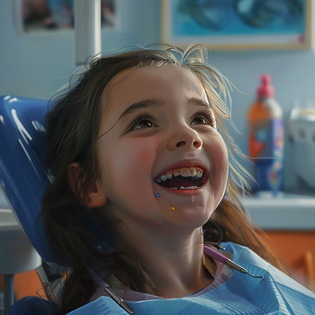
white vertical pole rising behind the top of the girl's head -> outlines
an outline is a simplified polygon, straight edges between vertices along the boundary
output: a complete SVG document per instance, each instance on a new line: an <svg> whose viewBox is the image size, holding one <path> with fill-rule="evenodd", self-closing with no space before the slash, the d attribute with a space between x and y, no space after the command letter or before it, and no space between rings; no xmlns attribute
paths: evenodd
<svg viewBox="0 0 315 315"><path fill-rule="evenodd" d="M74 1L75 55L77 66L86 59L99 57L101 53L100 37L100 0Z"/></svg>

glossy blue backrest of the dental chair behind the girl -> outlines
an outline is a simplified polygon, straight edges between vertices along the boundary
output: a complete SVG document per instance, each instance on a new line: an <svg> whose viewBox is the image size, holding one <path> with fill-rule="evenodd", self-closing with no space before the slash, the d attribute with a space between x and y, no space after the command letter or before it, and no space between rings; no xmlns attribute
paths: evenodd
<svg viewBox="0 0 315 315"><path fill-rule="evenodd" d="M45 261L54 261L44 231L42 197L46 167L47 100L0 97L0 183L13 213Z"/></svg>

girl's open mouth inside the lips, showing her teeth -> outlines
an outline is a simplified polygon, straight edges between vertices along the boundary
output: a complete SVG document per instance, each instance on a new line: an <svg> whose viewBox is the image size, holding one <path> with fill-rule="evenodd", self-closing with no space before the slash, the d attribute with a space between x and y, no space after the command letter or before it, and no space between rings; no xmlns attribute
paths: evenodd
<svg viewBox="0 0 315 315"><path fill-rule="evenodd" d="M154 182L171 189L197 189L207 180L201 167L182 167L160 175Z"/></svg>

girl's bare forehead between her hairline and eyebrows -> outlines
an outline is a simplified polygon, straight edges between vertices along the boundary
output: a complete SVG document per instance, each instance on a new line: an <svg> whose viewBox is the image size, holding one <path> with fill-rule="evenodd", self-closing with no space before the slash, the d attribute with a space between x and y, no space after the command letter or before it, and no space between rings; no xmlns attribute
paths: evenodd
<svg viewBox="0 0 315 315"><path fill-rule="evenodd" d="M192 71L171 63L159 64L154 61L114 77L101 97L104 110L122 110L131 103L151 98L167 101L194 96L206 100L203 86Z"/></svg>

